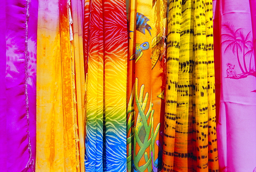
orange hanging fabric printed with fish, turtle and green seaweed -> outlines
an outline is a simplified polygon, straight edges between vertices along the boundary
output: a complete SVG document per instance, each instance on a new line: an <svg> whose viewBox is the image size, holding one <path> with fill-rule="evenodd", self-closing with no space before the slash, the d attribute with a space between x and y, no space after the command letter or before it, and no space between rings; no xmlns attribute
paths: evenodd
<svg viewBox="0 0 256 172"><path fill-rule="evenodd" d="M127 70L127 171L161 171L167 1L131 0Z"/></svg>

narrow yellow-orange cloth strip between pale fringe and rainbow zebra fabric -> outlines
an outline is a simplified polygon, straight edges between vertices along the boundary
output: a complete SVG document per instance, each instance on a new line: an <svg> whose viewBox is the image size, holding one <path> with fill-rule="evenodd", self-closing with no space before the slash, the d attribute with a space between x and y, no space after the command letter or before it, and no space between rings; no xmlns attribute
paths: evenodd
<svg viewBox="0 0 256 172"><path fill-rule="evenodd" d="M79 142L77 148L79 149L80 171L84 170L84 96L85 96L85 74L84 74L84 56L83 56L83 26L82 26L82 11L80 8L84 4L79 1L71 1L72 7L72 21L73 21L73 38L72 43L72 62L73 62L73 82L75 83L76 101L77 101L77 127L79 131L77 134ZM78 162L78 159L77 159Z"/></svg>

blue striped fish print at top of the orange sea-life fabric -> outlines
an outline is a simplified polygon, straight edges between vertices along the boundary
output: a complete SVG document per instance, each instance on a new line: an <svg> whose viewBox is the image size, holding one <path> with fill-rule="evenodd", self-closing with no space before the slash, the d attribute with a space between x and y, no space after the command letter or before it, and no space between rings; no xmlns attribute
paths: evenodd
<svg viewBox="0 0 256 172"><path fill-rule="evenodd" d="M149 24L147 24L147 21L149 21L149 19L146 16L144 16L141 13L137 13L136 30L140 31L141 33L143 33L145 35L145 29L146 29L151 36L150 29L152 30L152 28Z"/></svg>

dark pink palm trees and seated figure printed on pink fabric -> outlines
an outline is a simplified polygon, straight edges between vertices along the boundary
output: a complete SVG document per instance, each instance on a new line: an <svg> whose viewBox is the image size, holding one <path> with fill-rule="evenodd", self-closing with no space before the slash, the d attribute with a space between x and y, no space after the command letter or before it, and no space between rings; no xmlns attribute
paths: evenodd
<svg viewBox="0 0 256 172"><path fill-rule="evenodd" d="M244 28L235 29L234 25L230 24L229 22L223 23L221 25L221 28L223 29L224 33L221 34L221 41L222 46L226 45L226 48L224 50L224 54L226 54L228 51L232 51L232 53L237 56L238 65L240 67L240 70L242 71L241 74L234 75L232 73L231 75L228 74L228 71L233 70L233 67L231 67L227 63L228 69L227 69L227 78L233 78L233 79L241 79L245 78L249 75L255 76L255 68L254 66L251 67L251 60L250 58L250 64L249 68L246 66L246 57L250 56L252 57L253 52L253 43L250 41L251 39L251 31L246 35L243 33ZM246 52L247 51L247 52ZM241 65L239 54L243 55L243 66ZM230 68L231 67L231 68Z"/></svg>

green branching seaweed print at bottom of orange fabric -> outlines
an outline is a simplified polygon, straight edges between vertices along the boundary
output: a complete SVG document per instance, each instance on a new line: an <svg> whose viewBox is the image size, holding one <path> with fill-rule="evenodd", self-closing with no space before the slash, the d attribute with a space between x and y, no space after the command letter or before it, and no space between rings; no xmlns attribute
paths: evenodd
<svg viewBox="0 0 256 172"><path fill-rule="evenodd" d="M144 95L144 87L143 84L140 88L140 93L138 96L138 78L135 79L135 83L132 88L132 93L127 106L127 170L128 171L152 171L152 158L151 152L155 151L155 140L156 136L159 132L160 123L157 124L157 127L154 131L154 110L152 109L153 103L150 103L150 107L147 111L145 111L148 100L148 93ZM134 98L135 103L138 108L138 115L136 124L134 125L134 117L136 112L134 111ZM151 102L151 101L150 101ZM130 114L130 115L129 115ZM150 119L150 120L148 120ZM149 122L148 122L149 121ZM138 153L133 153L133 150L136 150L136 143L139 146ZM147 152L147 148L149 147L149 151ZM154 155L154 154L153 154ZM145 164L139 167L139 161L144 158Z"/></svg>

